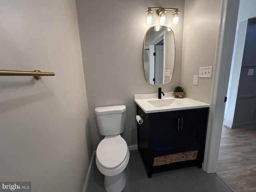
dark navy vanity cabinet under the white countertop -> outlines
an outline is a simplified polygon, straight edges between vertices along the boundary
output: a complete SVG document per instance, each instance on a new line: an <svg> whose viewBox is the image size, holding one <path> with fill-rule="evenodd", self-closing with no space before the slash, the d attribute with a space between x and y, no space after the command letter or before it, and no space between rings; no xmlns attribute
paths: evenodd
<svg viewBox="0 0 256 192"><path fill-rule="evenodd" d="M202 167L208 108L145 114L136 105L136 110L144 121L137 124L138 150L148 178L159 171Z"/></svg>

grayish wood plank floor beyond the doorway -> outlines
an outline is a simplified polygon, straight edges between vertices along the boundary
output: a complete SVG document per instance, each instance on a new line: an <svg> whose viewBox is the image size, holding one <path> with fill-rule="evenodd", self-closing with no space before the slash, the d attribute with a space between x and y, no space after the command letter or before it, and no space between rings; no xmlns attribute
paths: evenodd
<svg viewBox="0 0 256 192"><path fill-rule="evenodd" d="M256 192L256 126L223 126L216 174L236 192Z"/></svg>

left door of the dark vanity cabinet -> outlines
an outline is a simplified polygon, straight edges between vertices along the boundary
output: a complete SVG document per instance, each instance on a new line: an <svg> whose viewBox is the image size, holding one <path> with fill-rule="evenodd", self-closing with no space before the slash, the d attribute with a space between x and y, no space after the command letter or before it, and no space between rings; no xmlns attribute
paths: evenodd
<svg viewBox="0 0 256 192"><path fill-rule="evenodd" d="M174 131L178 113L152 115L152 154L168 154L174 150Z"/></svg>

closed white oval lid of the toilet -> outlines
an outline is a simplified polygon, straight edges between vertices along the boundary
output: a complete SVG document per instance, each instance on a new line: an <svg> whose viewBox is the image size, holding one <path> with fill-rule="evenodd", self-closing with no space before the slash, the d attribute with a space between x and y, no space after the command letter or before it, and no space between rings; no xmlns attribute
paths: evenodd
<svg viewBox="0 0 256 192"><path fill-rule="evenodd" d="M127 144L120 135L110 138L105 137L98 144L96 157L102 166L114 168L124 161L127 152Z"/></svg>

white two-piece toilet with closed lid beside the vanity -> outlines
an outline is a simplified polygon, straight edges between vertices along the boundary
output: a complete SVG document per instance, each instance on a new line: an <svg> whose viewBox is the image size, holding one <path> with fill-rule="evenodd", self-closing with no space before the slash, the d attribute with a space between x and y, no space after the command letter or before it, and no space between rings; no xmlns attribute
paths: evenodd
<svg viewBox="0 0 256 192"><path fill-rule="evenodd" d="M124 132L125 105L95 108L98 129L104 139L96 149L96 166L104 175L107 192L121 192L126 183L126 168L130 152L126 141L120 136Z"/></svg>

